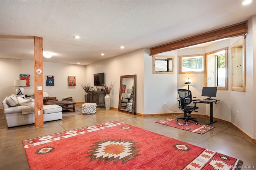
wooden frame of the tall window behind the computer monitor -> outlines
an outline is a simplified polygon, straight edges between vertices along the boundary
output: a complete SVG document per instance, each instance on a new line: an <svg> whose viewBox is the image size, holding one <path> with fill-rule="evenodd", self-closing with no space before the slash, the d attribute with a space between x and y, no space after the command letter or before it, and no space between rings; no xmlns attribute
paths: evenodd
<svg viewBox="0 0 256 170"><path fill-rule="evenodd" d="M220 51L224 51L225 50L225 86L217 86L216 85L216 79L218 77L218 73L217 73L217 57L218 55L214 55ZM214 55L214 63L216 64L214 67L214 78L215 78L215 84L213 87L217 87L218 90L228 90L228 47L224 47L215 51L211 51L209 53L206 53L206 65L205 65L205 86L206 87L212 87L212 86L208 86L208 55Z"/></svg>

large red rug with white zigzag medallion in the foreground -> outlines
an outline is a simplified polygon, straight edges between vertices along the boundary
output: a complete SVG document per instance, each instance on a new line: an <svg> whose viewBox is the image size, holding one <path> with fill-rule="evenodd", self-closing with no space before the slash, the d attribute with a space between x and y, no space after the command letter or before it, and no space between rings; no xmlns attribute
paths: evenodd
<svg viewBox="0 0 256 170"><path fill-rule="evenodd" d="M231 170L242 161L119 121L23 141L31 170Z"/></svg>

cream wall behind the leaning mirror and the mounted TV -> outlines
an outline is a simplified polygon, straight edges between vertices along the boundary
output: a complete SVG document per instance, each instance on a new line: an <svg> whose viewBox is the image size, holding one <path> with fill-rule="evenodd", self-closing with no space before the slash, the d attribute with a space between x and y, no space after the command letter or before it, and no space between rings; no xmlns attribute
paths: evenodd
<svg viewBox="0 0 256 170"><path fill-rule="evenodd" d="M111 93L111 107L118 108L121 75L137 75L135 112L144 113L144 49L105 59L86 66L86 82L93 84L93 74L104 73L105 82L116 82Z"/></svg>

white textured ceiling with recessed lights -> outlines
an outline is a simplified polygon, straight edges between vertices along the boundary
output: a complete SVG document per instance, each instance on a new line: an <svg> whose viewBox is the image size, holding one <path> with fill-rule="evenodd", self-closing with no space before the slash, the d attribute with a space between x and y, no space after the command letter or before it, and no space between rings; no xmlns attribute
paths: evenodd
<svg viewBox="0 0 256 170"><path fill-rule="evenodd" d="M1 0L0 57L87 65L248 20L256 2L241 0ZM80 36L79 40L73 36ZM124 45L124 49L119 47ZM100 54L104 53L104 56Z"/></svg>

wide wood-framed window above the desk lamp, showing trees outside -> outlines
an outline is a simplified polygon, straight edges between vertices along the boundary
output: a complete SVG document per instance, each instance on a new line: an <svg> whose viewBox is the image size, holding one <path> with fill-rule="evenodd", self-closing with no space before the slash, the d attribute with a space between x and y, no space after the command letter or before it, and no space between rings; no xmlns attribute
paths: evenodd
<svg viewBox="0 0 256 170"><path fill-rule="evenodd" d="M180 55L180 74L204 73L204 54Z"/></svg>

